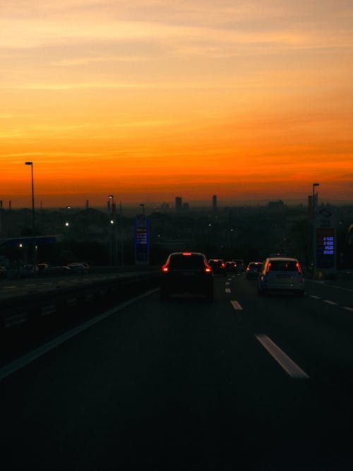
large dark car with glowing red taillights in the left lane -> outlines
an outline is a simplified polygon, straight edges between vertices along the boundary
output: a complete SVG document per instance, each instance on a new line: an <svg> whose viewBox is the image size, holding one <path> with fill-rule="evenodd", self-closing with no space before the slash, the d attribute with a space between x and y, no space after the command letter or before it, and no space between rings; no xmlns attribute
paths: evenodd
<svg viewBox="0 0 353 471"><path fill-rule="evenodd" d="M161 269L160 298L170 294L203 294L213 301L213 271L199 252L173 252Z"/></svg>

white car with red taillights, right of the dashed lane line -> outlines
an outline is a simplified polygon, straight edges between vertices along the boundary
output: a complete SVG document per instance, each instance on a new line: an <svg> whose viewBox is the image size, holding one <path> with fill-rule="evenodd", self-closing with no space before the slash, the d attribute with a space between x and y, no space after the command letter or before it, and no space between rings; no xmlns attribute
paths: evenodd
<svg viewBox="0 0 353 471"><path fill-rule="evenodd" d="M258 293L292 292L304 295L304 275L297 258L269 257L258 277Z"/></svg>

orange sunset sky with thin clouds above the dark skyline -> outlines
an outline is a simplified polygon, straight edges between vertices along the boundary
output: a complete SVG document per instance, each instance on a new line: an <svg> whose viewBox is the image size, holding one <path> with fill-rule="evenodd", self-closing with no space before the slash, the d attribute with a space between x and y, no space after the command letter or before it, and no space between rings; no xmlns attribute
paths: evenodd
<svg viewBox="0 0 353 471"><path fill-rule="evenodd" d="M2 0L0 199L353 201L352 0Z"/></svg>

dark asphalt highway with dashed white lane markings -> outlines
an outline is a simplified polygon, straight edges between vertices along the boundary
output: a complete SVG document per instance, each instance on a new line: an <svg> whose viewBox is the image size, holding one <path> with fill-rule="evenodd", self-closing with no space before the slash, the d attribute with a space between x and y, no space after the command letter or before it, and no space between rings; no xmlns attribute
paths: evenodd
<svg viewBox="0 0 353 471"><path fill-rule="evenodd" d="M124 302L0 369L1 469L352 470L352 294Z"/></svg>

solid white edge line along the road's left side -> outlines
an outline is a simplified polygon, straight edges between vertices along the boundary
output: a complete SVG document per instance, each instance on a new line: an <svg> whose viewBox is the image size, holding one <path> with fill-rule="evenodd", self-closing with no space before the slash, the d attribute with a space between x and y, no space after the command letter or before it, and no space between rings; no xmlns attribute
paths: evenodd
<svg viewBox="0 0 353 471"><path fill-rule="evenodd" d="M68 332L59 335L59 337L50 340L50 342L44 343L44 345L41 345L40 347L35 348L35 350L32 350L31 352L28 352L27 354L23 355L23 357L20 357L14 360L13 362L6 364L5 366L2 366L2 368L0 368L0 381L2 381L7 376L10 376L11 374L15 373L16 371L18 371L18 369L23 368L23 366L34 362L35 359L42 357L42 355L49 352L50 350L53 350L53 348L58 347L59 345L61 345L61 343L66 342L66 340L70 340L71 338L75 337L75 335L78 335L83 330L88 329L90 326L93 326L94 324L102 321L104 318L112 316L112 314L115 314L116 312L125 309L127 306L130 306L134 302L143 299L144 297L147 297L156 291L158 291L158 288L140 294L139 296L136 296L133 299L129 299L128 301L119 304L119 306L115 306L112 309L105 311L103 314L100 314L100 316L90 319L90 321L87 321L81 324L80 326L77 326L76 328L68 330Z"/></svg>

